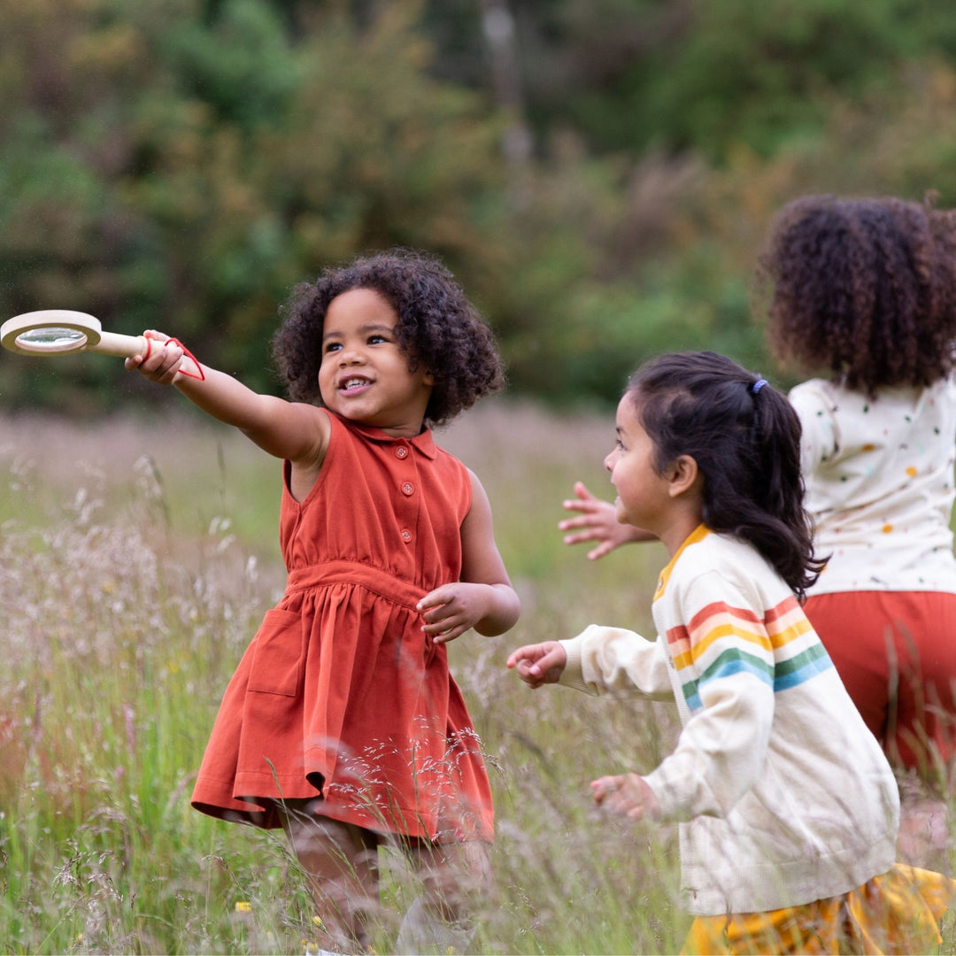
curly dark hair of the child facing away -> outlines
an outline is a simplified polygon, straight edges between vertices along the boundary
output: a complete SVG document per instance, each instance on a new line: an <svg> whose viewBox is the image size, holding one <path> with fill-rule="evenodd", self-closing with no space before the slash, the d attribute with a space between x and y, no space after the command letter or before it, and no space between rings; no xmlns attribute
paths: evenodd
<svg viewBox="0 0 956 956"><path fill-rule="evenodd" d="M956 214L900 199L804 196L755 272L771 350L870 397L953 368Z"/></svg>

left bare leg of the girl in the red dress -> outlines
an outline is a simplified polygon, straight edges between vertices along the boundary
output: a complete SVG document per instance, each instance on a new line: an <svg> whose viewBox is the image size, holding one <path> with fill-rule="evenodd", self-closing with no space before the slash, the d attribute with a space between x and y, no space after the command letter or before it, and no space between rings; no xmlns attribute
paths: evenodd
<svg viewBox="0 0 956 956"><path fill-rule="evenodd" d="M379 907L378 840L368 830L316 815L318 800L288 800L283 827L305 871L328 945L367 949Z"/></svg>

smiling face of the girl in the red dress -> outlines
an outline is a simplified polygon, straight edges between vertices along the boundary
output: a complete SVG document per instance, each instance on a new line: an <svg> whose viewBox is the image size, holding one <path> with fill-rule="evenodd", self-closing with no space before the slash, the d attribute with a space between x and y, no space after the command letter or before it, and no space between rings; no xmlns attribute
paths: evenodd
<svg viewBox="0 0 956 956"><path fill-rule="evenodd" d="M373 289L337 295L325 313L318 387L342 418L409 437L422 430L434 378L421 366L409 369L398 324L391 303Z"/></svg>

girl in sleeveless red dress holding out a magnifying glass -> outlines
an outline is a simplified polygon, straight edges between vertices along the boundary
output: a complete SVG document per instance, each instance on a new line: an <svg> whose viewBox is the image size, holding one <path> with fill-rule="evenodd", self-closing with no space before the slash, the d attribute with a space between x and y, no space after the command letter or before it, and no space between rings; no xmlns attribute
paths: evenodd
<svg viewBox="0 0 956 956"><path fill-rule="evenodd" d="M286 830L332 950L371 944L377 848L399 844L424 893L398 950L462 951L493 818L445 644L507 631L519 603L481 483L429 425L501 388L488 326L438 261L392 250L294 291L273 341L292 401L190 376L147 335L128 368L283 460L285 595L228 684L193 806Z"/></svg>

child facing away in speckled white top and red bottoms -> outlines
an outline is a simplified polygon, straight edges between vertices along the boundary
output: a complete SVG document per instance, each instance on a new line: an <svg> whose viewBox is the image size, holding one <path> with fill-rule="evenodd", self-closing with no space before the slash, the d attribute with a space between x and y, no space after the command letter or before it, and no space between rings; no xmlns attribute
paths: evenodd
<svg viewBox="0 0 956 956"><path fill-rule="evenodd" d="M942 858L956 757L956 215L806 196L757 277L790 398L817 554L807 616L900 771L904 858Z"/></svg>

